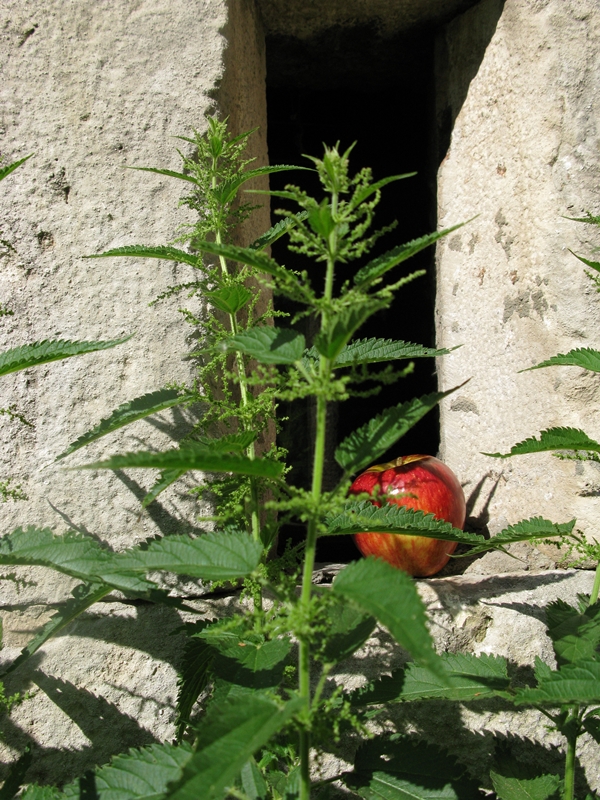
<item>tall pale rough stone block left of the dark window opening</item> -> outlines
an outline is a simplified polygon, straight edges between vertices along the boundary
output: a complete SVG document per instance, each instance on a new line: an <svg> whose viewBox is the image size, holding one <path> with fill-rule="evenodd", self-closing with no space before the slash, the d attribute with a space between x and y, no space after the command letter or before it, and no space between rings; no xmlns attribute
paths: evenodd
<svg viewBox="0 0 600 800"><path fill-rule="evenodd" d="M177 313L181 300L148 308L193 270L82 256L174 238L187 219L177 208L181 182L123 167L179 169L175 148L187 145L172 137L201 130L207 112L230 113L238 130L260 126L249 156L266 163L264 41L253 4L230 5L198 0L166 10L144 0L118 3L110 14L83 0L0 5L0 147L9 160L35 153L2 184L2 228L16 248L0 276L2 301L15 312L0 320L2 347L135 333L115 350L3 379L2 405L14 403L35 423L27 429L4 418L0 427L2 475L14 475L30 498L2 506L4 530L66 523L124 547L190 529L202 509L186 494L191 477L141 511L154 474L64 469L111 452L166 447L193 412L164 413L60 465L53 459L120 403L193 374L183 356L194 331ZM267 226L268 208L243 234Z"/></svg>

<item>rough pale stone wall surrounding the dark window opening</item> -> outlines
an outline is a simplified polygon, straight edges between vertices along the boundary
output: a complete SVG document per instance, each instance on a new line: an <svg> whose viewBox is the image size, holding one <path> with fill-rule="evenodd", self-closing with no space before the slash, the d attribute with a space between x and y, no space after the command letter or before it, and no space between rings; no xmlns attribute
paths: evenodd
<svg viewBox="0 0 600 800"><path fill-rule="evenodd" d="M270 30L290 33L275 16L283 14L281 4L259 5ZM439 21L443 5L373 4L378 19L387 10L404 22L408 10L426 6ZM457 2L453 9L470 5ZM299 8L288 3L284 11ZM363 19L367 4L332 8L349 23ZM314 32L307 9L313 6L294 23L296 35ZM561 217L598 208L593 11L592 0L482 0L438 39L440 225L479 213L439 248L438 343L463 344L440 363L440 379L448 388L471 378L443 405L442 457L468 495L483 482L472 521L492 531L535 513L557 521L577 516L590 532L597 521L588 496L598 492L593 465L579 473L550 456L500 463L480 455L507 450L550 425L600 435L597 384L588 376L568 368L517 374L556 352L597 346L597 299L567 249L588 253L591 231ZM0 404L15 403L36 424L29 430L3 418L0 427L2 473L15 475L30 496L0 508L2 530L28 523L71 527L115 548L175 528L193 530L199 506L185 483L160 506L141 511L151 475L65 472L53 459L119 403L190 376L179 358L190 331L177 301L148 308L171 283L188 279L187 268L82 256L174 237L185 221L177 209L181 187L122 167L178 168L170 137L202 129L208 110L231 114L238 130L261 125L251 154L265 163L264 40L255 6L115 0L108 13L89 0L0 0L0 30L0 149L8 160L35 153L2 183L3 237L16 253L3 259L0 274L0 300L15 311L0 319L1 346L136 332L115 350L2 379ZM265 227L264 215L257 229ZM164 447L186 425L189 417L180 414L137 423L70 464L141 445ZM540 607L589 591L591 575L497 576L513 564L490 556L465 576L421 583L441 649L499 652L517 666L536 654L550 658ZM6 661L48 618L46 604L63 601L72 587L41 569L23 578L24 584L1 584ZM8 683L14 690L26 681L34 696L3 720L5 759L33 742L30 777L52 782L129 746L169 739L181 640L168 634L180 622L175 612L111 597L48 643ZM386 636L379 632L357 655L368 670L381 672L403 657L388 649L388 661L381 660ZM435 719L435 729L426 716L419 722L433 738ZM473 748L477 771L480 751L490 738L510 733L512 718L486 710L467 722L459 744ZM543 735L539 718L525 716L523 725L523 737ZM483 731L480 750L473 731ZM597 748L590 741L582 760L597 788Z"/></svg>

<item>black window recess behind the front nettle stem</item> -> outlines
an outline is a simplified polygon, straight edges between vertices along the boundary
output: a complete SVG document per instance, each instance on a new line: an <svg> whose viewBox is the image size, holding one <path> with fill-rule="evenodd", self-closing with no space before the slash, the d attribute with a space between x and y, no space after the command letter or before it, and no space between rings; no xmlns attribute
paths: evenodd
<svg viewBox="0 0 600 800"><path fill-rule="evenodd" d="M302 154L320 156L322 143L340 142L347 148L356 141L352 171L363 166L375 179L386 175L417 172L413 178L383 190L376 227L398 220L398 227L377 243L370 257L435 229L435 160L433 144L433 36L424 32L410 37L383 38L376 28L332 29L311 40L289 37L267 39L267 103L269 159L272 164L305 164ZM310 173L284 173L271 178L272 188L298 183L318 192ZM277 208L281 201L273 200ZM278 217L274 216L274 221ZM323 280L322 267L290 253L285 244L273 248L274 256L293 268L309 270L315 286ZM364 262L363 262L364 263ZM340 267L338 285L360 266ZM359 331L360 338L403 339L434 345L434 252L429 249L400 265L393 278L415 269L427 269L398 294L393 306L376 314ZM277 297L278 310L295 309ZM279 324L285 324L280 321ZM314 323L299 323L310 340ZM401 364L403 362L398 362ZM369 398L355 398L329 415L326 487L339 479L333 453L336 445L384 408L411 397L435 391L435 362L419 359L413 375ZM291 479L308 488L311 474L313 408L310 402L282 404L283 422L279 442L289 451ZM438 416L431 412L380 460L409 453L435 455L439 445ZM287 538L298 541L303 531L294 525L284 529L280 548ZM317 560L350 561L358 551L348 538L320 540Z"/></svg>

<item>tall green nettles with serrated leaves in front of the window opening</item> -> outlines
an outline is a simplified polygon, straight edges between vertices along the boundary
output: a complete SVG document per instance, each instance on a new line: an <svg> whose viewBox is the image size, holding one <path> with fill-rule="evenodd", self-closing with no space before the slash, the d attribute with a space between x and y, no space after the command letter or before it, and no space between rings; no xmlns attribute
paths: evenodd
<svg viewBox="0 0 600 800"><path fill-rule="evenodd" d="M437 746L414 735L369 733L377 718L385 717L390 703L428 699L480 703L500 698L517 708L539 707L552 716L547 709L557 702L563 714L562 699L557 701L552 694L558 691L561 697L569 695L564 722L568 727L572 707L583 703L587 708L596 701L589 691L585 698L577 694L580 684L573 682L571 663L561 663L558 671L552 671L540 662L538 685L524 688L513 685L505 659L438 654L415 583L381 560L354 562L331 587L314 586L317 539L376 531L458 541L478 553L515 541L568 538L574 522L555 525L535 517L489 541L419 511L386 504L379 508L366 498L347 497L351 476L394 446L450 392L392 406L352 433L335 453L343 471L341 480L334 489L323 490L328 404L348 401L364 392L365 384L376 387L410 372L410 366L394 369L394 362L447 354L403 341L355 336L369 317L389 306L397 291L422 274L398 276L392 270L459 226L369 259L381 233L371 231L380 193L390 182L407 176L374 182L368 169L351 176L352 148L340 152L332 147L325 148L322 158L310 159L322 195L313 198L295 186L271 192L295 210L281 212L281 221L252 245L235 245L236 222L250 210L239 200L245 182L288 169L248 169L249 162L243 159L248 135L229 139L225 125L209 119L207 133L188 140L198 154L197 158L183 157L184 171L150 170L191 184L184 202L199 212L199 222L184 233L188 250L131 246L98 256L158 258L197 270L197 280L174 287L174 291L199 292L210 303L207 318L197 320L186 313L193 324L201 322L203 330L196 385L170 386L130 401L60 456L133 420L176 404L197 402L204 415L178 447L116 455L86 467L160 470L146 504L189 470L209 473L214 476L210 489L216 498L215 530L196 538L155 538L120 553L91 538L73 533L57 536L35 528L19 529L0 539L1 564L41 564L80 581L73 598L8 671L115 589L194 615L186 617L184 626L187 644L180 672L177 740L118 756L60 789L30 786L24 796L28 800L84 796L307 800L338 791L341 783L346 795L364 798L478 797L478 782ZM321 267L318 281L313 283L306 271L288 269L268 255L268 246L284 235L290 249ZM340 274L343 281L336 291L340 282L335 279ZM272 324L270 309L266 314L256 312L256 290L249 287L257 283L298 304L300 310L291 325ZM306 342L293 327L303 315L312 315L318 322L313 342ZM303 398L314 398L316 417L308 489L286 481L285 454L268 436L277 401ZM279 527L290 519L305 525L302 546L279 559L269 558ZM237 582L242 590L238 610L225 613L216 604L214 617L203 618L149 577L157 571L207 583ZM584 641L588 662L596 664L598 638L589 633L596 630L595 617L589 616L596 613L596 604L589 609L566 628L551 625L561 658L572 657L572 642ZM344 670L344 662L378 624L413 660L391 675L345 691L336 682L335 672ZM589 685L583 681L581 691L589 690ZM600 682L596 680L594 686L598 697ZM586 730L596 730L593 714L586 714L582 724ZM558 725L562 717L552 719ZM363 741L353 769L316 778L314 760L325 752L336 752L346 733ZM26 757L14 767L3 800L18 790L25 767ZM502 762L492 778L502 800L523 797L524 792L542 800L559 786L554 775L531 778ZM564 796L570 796L566 788Z"/></svg>

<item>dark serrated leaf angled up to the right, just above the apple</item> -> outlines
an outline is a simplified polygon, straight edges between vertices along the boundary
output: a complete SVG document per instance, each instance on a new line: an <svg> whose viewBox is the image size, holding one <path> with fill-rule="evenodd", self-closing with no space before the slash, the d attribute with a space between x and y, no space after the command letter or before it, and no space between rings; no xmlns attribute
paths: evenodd
<svg viewBox="0 0 600 800"><path fill-rule="evenodd" d="M457 388L447 392L433 392L386 408L344 439L335 451L335 460L347 474L368 467L396 444L428 411L435 408L440 400Z"/></svg>

